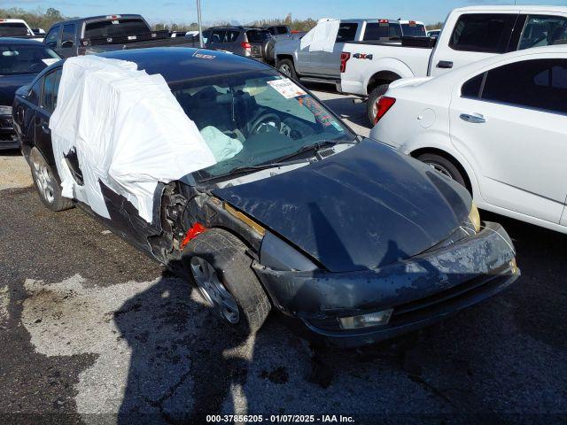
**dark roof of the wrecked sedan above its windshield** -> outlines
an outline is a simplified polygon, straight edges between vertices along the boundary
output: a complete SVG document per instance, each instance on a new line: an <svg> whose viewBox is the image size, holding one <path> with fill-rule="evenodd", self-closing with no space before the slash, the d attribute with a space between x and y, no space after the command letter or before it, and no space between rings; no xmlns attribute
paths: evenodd
<svg viewBox="0 0 567 425"><path fill-rule="evenodd" d="M134 62L146 73L160 73L168 83L225 73L273 70L256 60L224 51L187 47L117 50L100 56Z"/></svg>

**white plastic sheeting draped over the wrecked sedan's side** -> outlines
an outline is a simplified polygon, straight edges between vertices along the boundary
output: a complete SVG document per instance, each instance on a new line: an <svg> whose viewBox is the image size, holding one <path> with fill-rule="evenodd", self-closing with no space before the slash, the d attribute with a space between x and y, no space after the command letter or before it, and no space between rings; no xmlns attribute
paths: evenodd
<svg viewBox="0 0 567 425"><path fill-rule="evenodd" d="M66 59L50 130L63 196L88 204L105 218L110 216L99 181L151 222L158 182L216 163L164 78L124 60ZM84 185L75 181L65 159L73 150Z"/></svg>

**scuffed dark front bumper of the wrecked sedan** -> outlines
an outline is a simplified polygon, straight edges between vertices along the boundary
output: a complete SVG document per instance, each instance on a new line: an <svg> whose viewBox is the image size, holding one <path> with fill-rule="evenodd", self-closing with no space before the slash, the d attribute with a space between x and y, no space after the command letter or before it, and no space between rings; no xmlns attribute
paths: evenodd
<svg viewBox="0 0 567 425"><path fill-rule="evenodd" d="M387 267L351 273L276 271L254 263L274 305L329 344L374 344L427 327L508 287L520 275L508 234L469 236ZM387 325L342 330L338 317L393 308Z"/></svg>

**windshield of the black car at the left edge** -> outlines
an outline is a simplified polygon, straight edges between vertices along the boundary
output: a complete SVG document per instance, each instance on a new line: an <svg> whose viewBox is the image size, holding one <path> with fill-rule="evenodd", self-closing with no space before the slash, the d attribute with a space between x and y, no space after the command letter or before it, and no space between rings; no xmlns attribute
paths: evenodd
<svg viewBox="0 0 567 425"><path fill-rule="evenodd" d="M54 59L57 54L39 42L37 46L0 46L0 75L40 73L47 67L42 59Z"/></svg>

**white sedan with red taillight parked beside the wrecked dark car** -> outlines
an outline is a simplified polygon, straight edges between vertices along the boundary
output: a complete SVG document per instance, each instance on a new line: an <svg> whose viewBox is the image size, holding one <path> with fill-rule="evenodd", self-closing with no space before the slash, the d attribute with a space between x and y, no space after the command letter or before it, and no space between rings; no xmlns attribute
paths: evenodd
<svg viewBox="0 0 567 425"><path fill-rule="evenodd" d="M567 233L567 45L395 81L377 107L371 138L461 182L479 208Z"/></svg>

